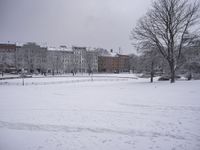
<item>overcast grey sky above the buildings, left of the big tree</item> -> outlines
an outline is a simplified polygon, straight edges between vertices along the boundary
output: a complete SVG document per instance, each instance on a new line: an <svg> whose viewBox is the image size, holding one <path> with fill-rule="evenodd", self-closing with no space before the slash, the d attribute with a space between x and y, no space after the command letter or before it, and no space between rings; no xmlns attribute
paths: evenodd
<svg viewBox="0 0 200 150"><path fill-rule="evenodd" d="M131 29L152 0L0 0L0 42L102 47L132 53Z"/></svg>

